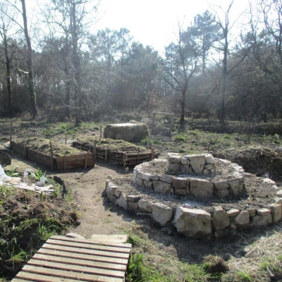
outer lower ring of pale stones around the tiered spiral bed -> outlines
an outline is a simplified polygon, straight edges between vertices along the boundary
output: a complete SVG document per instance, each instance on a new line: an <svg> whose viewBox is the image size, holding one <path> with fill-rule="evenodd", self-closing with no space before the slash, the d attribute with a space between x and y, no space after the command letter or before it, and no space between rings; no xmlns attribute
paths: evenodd
<svg viewBox="0 0 282 282"><path fill-rule="evenodd" d="M147 180L143 180L149 179L147 176ZM152 219L161 226L172 224L178 232L188 238L211 238L212 236L222 238L236 229L256 228L276 223L282 216L282 190L277 192L274 203L262 208L225 211L221 206L216 206L213 207L212 213L203 209L188 209L181 206L173 209L166 204L144 200L135 195L126 195L121 188L111 182L111 179L106 180L105 192L109 200L119 207L135 214L152 216Z"/></svg>

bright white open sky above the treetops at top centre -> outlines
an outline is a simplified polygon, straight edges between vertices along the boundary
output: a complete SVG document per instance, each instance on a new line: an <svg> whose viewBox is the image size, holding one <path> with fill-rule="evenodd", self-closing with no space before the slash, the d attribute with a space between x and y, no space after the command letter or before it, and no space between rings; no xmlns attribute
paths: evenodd
<svg viewBox="0 0 282 282"><path fill-rule="evenodd" d="M176 39L178 26L185 30L194 17L214 8L222 14L228 0L102 0L99 6L97 30L125 27L130 35L143 45L163 51L164 46ZM221 6L222 11L219 9ZM217 8L216 8L217 7ZM231 20L235 20L248 7L248 0L234 0ZM240 16L238 25L243 23ZM240 26L237 28L240 29Z"/></svg>

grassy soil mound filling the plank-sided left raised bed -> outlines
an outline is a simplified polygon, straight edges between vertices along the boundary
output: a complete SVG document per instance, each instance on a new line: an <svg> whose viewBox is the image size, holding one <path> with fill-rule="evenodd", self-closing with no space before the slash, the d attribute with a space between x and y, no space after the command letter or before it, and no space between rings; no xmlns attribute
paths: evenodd
<svg viewBox="0 0 282 282"><path fill-rule="evenodd" d="M17 143L21 143L34 151L40 152L42 154L51 155L50 140L39 137L30 137L25 140L17 140ZM53 156L54 157L63 157L70 156L75 154L80 154L80 150L64 145L59 142L51 141Z"/></svg>

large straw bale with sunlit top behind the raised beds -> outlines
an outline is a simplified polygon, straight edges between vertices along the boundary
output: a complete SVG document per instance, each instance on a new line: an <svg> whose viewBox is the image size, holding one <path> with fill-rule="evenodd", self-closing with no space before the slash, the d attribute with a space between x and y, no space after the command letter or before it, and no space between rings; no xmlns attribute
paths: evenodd
<svg viewBox="0 0 282 282"><path fill-rule="evenodd" d="M121 139L138 142L148 136L148 128L144 123L108 124L104 129L104 138Z"/></svg>

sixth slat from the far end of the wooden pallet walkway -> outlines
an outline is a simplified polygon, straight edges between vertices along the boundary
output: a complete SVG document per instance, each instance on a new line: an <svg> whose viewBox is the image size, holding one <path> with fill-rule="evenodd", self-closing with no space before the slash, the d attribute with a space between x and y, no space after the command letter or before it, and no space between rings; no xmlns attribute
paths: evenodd
<svg viewBox="0 0 282 282"><path fill-rule="evenodd" d="M58 269L58 270L66 270L66 271L77 271L84 274L95 274L95 275L102 275L102 276L110 276L110 277L117 277L123 278L124 272L117 271L117 270L109 270L109 269L99 269L97 267L89 267L89 266L80 266L75 265L75 267L71 264L66 264L63 262L47 262L42 261L39 259L30 259L27 265L32 266L39 266L39 267L47 267L51 269Z"/></svg>

